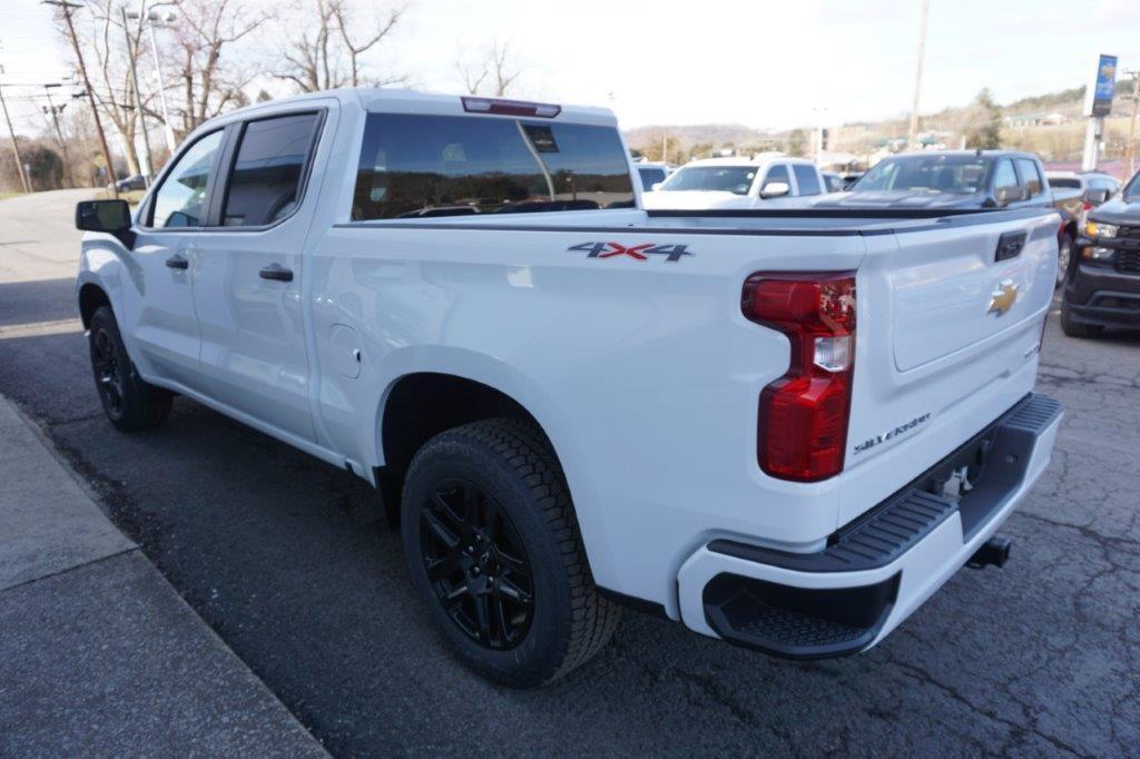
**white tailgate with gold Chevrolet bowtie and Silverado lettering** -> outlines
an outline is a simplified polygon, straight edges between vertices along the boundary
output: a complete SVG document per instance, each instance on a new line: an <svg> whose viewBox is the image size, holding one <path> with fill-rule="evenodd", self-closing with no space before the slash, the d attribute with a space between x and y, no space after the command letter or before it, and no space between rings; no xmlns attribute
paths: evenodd
<svg viewBox="0 0 1140 759"><path fill-rule="evenodd" d="M866 238L839 524L1033 389L1058 225L975 214Z"/></svg>

